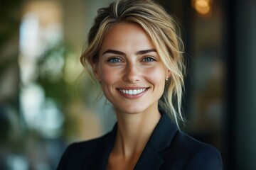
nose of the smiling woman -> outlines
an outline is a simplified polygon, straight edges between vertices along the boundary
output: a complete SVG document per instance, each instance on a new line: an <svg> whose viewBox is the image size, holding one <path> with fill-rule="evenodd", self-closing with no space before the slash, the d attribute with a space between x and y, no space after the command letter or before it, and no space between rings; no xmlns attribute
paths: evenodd
<svg viewBox="0 0 256 170"><path fill-rule="evenodd" d="M139 81L139 69L136 64L127 64L124 70L124 81L134 84Z"/></svg>

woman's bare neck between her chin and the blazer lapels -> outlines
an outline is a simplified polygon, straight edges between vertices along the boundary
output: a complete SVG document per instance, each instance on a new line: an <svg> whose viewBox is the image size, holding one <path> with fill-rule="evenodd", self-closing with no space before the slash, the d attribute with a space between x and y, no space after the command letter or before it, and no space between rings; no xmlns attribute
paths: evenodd
<svg viewBox="0 0 256 170"><path fill-rule="evenodd" d="M141 154L160 117L157 108L137 114L117 112L118 129L113 151L125 158Z"/></svg>

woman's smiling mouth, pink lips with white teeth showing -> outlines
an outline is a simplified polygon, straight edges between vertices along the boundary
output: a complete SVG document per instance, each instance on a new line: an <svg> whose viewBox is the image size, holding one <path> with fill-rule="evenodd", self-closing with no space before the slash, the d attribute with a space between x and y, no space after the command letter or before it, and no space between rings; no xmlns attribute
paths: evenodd
<svg viewBox="0 0 256 170"><path fill-rule="evenodd" d="M143 96L149 87L122 87L118 88L117 91L121 96L128 99L137 99ZM125 91L125 92L124 92ZM135 94L134 94L135 92Z"/></svg>

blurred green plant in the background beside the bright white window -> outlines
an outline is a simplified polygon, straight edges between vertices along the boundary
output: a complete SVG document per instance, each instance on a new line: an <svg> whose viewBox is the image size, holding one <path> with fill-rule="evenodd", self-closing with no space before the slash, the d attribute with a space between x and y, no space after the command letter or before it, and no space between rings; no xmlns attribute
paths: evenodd
<svg viewBox="0 0 256 170"><path fill-rule="evenodd" d="M38 79L46 94L46 98L53 98L58 103L66 103L71 97L68 94L68 84L64 80L64 64L68 55L68 48L59 43L48 49L38 60Z"/></svg>

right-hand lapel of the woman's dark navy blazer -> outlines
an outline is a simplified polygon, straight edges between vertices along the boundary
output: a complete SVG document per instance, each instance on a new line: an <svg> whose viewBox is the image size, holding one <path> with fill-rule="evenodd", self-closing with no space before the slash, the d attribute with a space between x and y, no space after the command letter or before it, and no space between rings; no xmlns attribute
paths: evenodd
<svg viewBox="0 0 256 170"><path fill-rule="evenodd" d="M171 121L169 115L162 112L161 119L152 132L149 142L147 142L134 169L160 169L161 165L164 164L164 159L161 158L159 152L171 145L171 140L174 138L177 130L178 128Z"/></svg>

